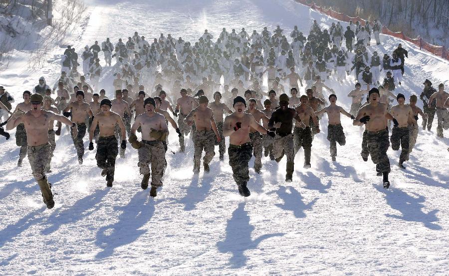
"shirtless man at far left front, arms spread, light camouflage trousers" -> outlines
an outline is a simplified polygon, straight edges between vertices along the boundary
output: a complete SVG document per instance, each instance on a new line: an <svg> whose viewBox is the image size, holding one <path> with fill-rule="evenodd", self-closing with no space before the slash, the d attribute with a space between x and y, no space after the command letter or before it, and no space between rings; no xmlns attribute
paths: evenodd
<svg viewBox="0 0 449 276"><path fill-rule="evenodd" d="M54 200L51 192L51 184L48 183L45 175L45 166L50 156L50 143L48 142L48 126L50 121L58 121L66 125L76 126L67 118L56 115L51 111L43 111L42 96L33 94L30 97L30 108L26 113L14 111L11 119L6 124L6 130L12 130L19 124L23 124L26 128L26 138L28 141L28 160L31 170L36 179L40 191L42 193L43 202L48 209L53 208ZM76 129L73 135L76 136Z"/></svg>

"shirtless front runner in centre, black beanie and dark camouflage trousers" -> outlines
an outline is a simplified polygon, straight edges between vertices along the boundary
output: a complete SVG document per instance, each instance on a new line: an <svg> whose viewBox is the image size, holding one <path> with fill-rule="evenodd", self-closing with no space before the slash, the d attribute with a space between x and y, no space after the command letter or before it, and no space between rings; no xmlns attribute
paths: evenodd
<svg viewBox="0 0 449 276"><path fill-rule="evenodd" d="M288 105L288 104L287 104ZM249 181L248 162L252 156L252 145L249 138L249 130L253 128L261 134L274 136L274 132L267 131L260 126L254 117L245 113L246 102L240 96L234 98L234 112L225 118L223 123L223 135L229 136L229 165L232 168L232 176L238 186L241 196L249 196L251 193L246 186Z"/></svg>

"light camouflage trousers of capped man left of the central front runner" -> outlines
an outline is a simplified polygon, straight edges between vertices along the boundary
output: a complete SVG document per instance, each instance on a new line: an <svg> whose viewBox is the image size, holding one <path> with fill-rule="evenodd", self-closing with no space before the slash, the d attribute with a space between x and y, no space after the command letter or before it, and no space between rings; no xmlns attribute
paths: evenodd
<svg viewBox="0 0 449 276"><path fill-rule="evenodd" d="M196 131L194 133L194 171L200 171L201 154L205 151L203 162L209 164L215 155L214 131Z"/></svg>

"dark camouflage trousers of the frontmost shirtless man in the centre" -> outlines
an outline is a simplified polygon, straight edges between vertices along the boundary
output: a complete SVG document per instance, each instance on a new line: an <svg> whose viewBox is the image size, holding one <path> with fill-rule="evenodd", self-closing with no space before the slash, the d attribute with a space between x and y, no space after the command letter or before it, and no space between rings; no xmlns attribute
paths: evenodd
<svg viewBox="0 0 449 276"><path fill-rule="evenodd" d="M248 162L252 156L251 143L247 142L241 145L229 144L227 154L229 155L229 166L232 168L232 176L235 183L241 185L243 182L248 182Z"/></svg>

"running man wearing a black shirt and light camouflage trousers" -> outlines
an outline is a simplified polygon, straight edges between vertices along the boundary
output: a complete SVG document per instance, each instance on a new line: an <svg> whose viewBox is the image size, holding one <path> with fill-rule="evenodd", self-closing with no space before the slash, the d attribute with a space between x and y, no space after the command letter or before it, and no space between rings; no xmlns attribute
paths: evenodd
<svg viewBox="0 0 449 276"><path fill-rule="evenodd" d="M306 96L307 98L307 96ZM287 156L287 168L285 181L291 182L294 170L294 149L293 149L293 119L298 123L301 119L298 117L295 109L288 107L289 98L287 94L279 96L279 108L276 109L268 121L268 128L275 129L273 139L273 155L276 162L279 162L284 154Z"/></svg>

